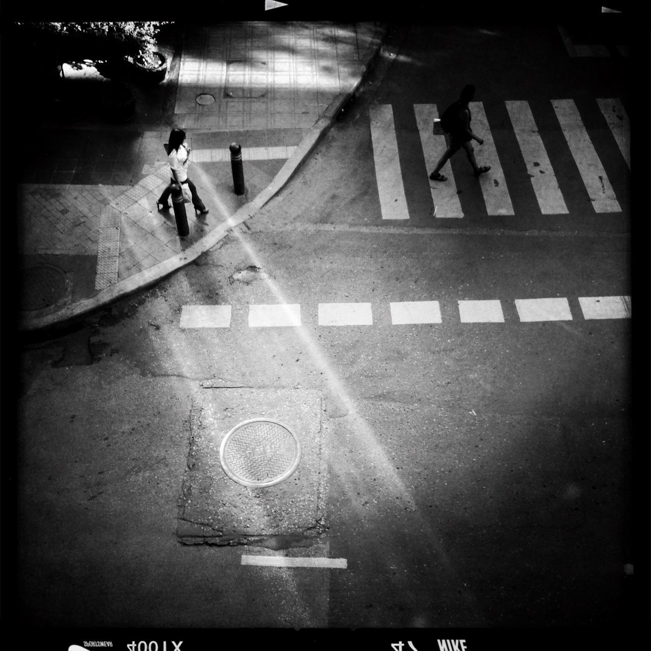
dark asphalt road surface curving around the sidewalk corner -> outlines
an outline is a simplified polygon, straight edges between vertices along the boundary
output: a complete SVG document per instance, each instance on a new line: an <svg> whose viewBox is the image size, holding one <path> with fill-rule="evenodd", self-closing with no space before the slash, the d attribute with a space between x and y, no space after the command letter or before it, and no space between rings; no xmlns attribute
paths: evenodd
<svg viewBox="0 0 651 651"><path fill-rule="evenodd" d="M551 48L533 32L519 53ZM418 55L452 38L410 36L281 196L219 247L79 329L23 346L23 624L473 628L626 617L631 320L585 320L578 299L630 296L630 215L383 221L368 106L432 101ZM492 65L455 74L465 82ZM458 85L445 71L437 83ZM549 72L547 90L538 79L536 94L576 83L557 89L556 79ZM572 318L523 322L514 301L531 298L566 298ZM392 322L390 303L428 300L440 323ZM465 300L499 301L503 322L462 322ZM320 325L319 305L336 302L370 303L372 323ZM277 303L299 304L301 327L249 326L249 305ZM230 305L230 326L181 328L187 305ZM346 559L346 569L251 568L243 553L273 550L178 544L202 382L322 392L327 531L279 553Z"/></svg>

